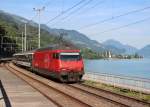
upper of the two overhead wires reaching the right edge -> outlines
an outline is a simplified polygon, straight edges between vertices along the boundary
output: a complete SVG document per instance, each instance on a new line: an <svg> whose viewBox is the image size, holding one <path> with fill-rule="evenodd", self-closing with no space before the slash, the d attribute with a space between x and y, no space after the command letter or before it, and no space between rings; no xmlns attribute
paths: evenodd
<svg viewBox="0 0 150 107"><path fill-rule="evenodd" d="M95 22L95 23L92 23L92 24L85 25L83 27L80 27L79 30L87 29L87 28L96 26L98 24L101 24L101 23L104 23L104 22L108 22L108 21L111 21L111 20L114 20L114 19L117 19L117 18L120 18L120 17L123 17L123 16L127 16L127 15L130 15L130 14L134 14L134 13L137 13L137 12L141 12L141 11L144 11L144 10L147 10L147 9L150 9L150 6L144 7L144 8L141 8L141 9L137 9L137 10L133 10L133 11L129 11L127 13L123 13L123 14L120 14L120 15L112 16L110 18L106 18L104 20L101 20L101 21L98 21L98 22Z"/></svg>

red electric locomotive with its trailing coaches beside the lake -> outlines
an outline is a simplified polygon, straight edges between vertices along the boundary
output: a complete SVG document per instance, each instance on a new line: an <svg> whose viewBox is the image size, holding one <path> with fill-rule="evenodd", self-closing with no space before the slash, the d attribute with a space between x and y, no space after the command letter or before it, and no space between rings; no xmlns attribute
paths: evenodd
<svg viewBox="0 0 150 107"><path fill-rule="evenodd" d="M15 54L15 59L19 60L18 56L21 55L28 61L15 63L23 66L27 64L34 72L57 78L62 82L80 81L84 74L83 59L78 49L47 47L29 53Z"/></svg>

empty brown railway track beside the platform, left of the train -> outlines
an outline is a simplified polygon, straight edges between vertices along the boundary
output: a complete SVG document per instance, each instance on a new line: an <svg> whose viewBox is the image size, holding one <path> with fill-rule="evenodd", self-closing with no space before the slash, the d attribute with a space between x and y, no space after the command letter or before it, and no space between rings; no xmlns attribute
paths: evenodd
<svg viewBox="0 0 150 107"><path fill-rule="evenodd" d="M60 90L44 84L43 82L36 80L35 78L19 72L9 65L6 65L6 67L9 71L13 72L15 75L26 81L29 85L38 90L41 94L43 94L58 107L90 107L86 103L83 103L78 99L62 93Z"/></svg>

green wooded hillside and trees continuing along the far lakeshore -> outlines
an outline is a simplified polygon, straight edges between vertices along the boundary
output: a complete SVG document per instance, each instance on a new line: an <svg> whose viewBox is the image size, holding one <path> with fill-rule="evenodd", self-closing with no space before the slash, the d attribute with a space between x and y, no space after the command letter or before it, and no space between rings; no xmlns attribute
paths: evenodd
<svg viewBox="0 0 150 107"><path fill-rule="evenodd" d="M3 45L1 48L1 54L9 53L12 55L16 52L22 51L22 32L24 32L24 22L22 20L27 21L19 16L7 14L0 11L0 39L3 39ZM34 50L38 48L38 25L34 22L27 23L27 50ZM75 32L76 33L76 32ZM5 37L4 37L5 36ZM7 37L6 37L7 36ZM75 39L76 40L76 39ZM78 39L77 39L78 40ZM86 59L104 59L110 58L110 52L95 52L92 49L88 48L81 48L81 45L74 45L71 40L62 39L60 41L60 36L56 34L52 34L41 28L41 47L46 47L50 44L58 44L60 43L68 44L70 47L76 47L81 49L83 54L83 58ZM4 43L10 43L5 45ZM1 41L0 41L1 45ZM0 46L1 47L1 46ZM7 55L6 55L7 56ZM118 58L118 59L131 59L131 58L138 58L139 56L135 54L134 56L124 57L122 55L114 55L111 58Z"/></svg>

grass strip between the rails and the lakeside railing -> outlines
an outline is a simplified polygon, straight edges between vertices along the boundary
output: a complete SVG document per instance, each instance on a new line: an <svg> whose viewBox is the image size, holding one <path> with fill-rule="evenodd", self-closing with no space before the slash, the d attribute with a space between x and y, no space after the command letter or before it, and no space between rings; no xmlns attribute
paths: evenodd
<svg viewBox="0 0 150 107"><path fill-rule="evenodd" d="M96 88L100 88L100 89L105 89L108 91L112 91L112 92L115 92L117 94L129 96L129 97L134 97L136 99L143 100L146 102L150 102L150 94L146 94L146 93L142 93L142 92L138 92L138 91L133 91L133 90L129 90L129 89L124 89L124 88L120 88L120 87L114 87L113 85L108 85L108 84L95 82L95 81L91 81L91 80L85 80L83 82L83 84L89 85L92 87L96 87Z"/></svg>

